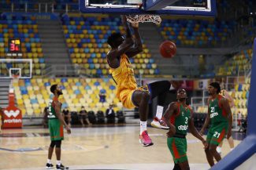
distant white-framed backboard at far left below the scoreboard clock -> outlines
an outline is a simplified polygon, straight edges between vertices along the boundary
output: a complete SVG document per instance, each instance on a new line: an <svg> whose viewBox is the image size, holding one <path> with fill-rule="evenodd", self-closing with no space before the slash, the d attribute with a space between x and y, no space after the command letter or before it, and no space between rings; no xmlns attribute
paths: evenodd
<svg viewBox="0 0 256 170"><path fill-rule="evenodd" d="M32 78L32 59L0 59L1 78Z"/></svg>

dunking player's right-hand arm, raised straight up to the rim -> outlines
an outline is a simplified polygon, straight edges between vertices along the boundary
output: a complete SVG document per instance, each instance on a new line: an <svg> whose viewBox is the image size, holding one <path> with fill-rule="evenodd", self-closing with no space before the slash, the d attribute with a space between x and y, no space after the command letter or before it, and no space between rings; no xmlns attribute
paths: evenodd
<svg viewBox="0 0 256 170"><path fill-rule="evenodd" d="M132 28L135 34L135 46L129 49L128 52L125 52L129 58L143 52L143 43L141 42L141 37L139 34L139 24L132 24Z"/></svg>

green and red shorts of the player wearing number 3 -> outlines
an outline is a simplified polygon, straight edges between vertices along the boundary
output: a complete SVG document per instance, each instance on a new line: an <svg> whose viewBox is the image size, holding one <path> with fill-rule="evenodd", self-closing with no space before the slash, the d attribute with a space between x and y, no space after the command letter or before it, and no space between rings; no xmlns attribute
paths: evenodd
<svg viewBox="0 0 256 170"><path fill-rule="evenodd" d="M187 161L187 139L186 138L167 138L167 145L171 154L173 155L173 161L182 163Z"/></svg>

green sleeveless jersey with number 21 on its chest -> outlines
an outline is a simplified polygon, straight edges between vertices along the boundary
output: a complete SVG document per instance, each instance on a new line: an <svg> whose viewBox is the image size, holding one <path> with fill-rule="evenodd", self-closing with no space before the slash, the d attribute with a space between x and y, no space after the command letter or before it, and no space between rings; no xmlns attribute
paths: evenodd
<svg viewBox="0 0 256 170"><path fill-rule="evenodd" d="M228 123L228 115L221 108L221 99L224 97L218 95L215 99L210 99L208 111L210 112L210 123L211 125L217 125L219 123Z"/></svg>

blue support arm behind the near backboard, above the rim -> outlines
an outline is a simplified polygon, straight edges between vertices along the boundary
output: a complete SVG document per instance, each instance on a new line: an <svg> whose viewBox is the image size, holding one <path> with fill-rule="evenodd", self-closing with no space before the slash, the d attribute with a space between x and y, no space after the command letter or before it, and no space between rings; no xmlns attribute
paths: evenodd
<svg viewBox="0 0 256 170"><path fill-rule="evenodd" d="M164 9L165 6L172 5L173 3L179 0L143 0L144 1L144 10L146 11L156 11Z"/></svg>

